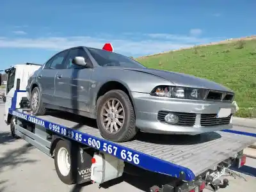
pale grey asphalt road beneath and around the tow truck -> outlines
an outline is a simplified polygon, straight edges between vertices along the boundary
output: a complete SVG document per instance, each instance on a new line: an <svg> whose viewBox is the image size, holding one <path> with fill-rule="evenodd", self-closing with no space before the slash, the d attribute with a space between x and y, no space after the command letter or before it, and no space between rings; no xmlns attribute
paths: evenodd
<svg viewBox="0 0 256 192"><path fill-rule="evenodd" d="M4 104L0 103L0 192L147 191L150 185L154 184L152 181L157 180L157 176L152 177L152 175L150 177L147 175L143 175L143 177L124 175L115 182L104 184L101 188L98 184L89 184L77 188L67 186L58 179L54 161L51 157L40 152L24 140L12 139L9 127L4 124L3 109ZM243 129L243 127L236 127L236 129ZM256 129L251 131L256 131ZM219 191L255 191L256 159L248 159L246 166L239 171L246 172L242 175L247 181L239 177L234 179L234 177L227 175L225 178L230 180L230 186Z"/></svg>

